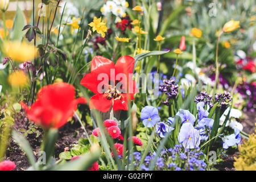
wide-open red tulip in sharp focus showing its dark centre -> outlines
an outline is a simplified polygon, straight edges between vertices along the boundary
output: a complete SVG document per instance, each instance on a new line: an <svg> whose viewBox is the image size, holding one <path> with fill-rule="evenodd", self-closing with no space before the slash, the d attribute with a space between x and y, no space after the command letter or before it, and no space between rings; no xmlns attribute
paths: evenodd
<svg viewBox="0 0 256 182"><path fill-rule="evenodd" d="M113 110L128 110L127 102L138 92L132 80L134 62L131 56L122 56L115 64L102 56L93 57L90 73L80 82L96 94L90 98L90 109L106 112L113 105Z"/></svg>

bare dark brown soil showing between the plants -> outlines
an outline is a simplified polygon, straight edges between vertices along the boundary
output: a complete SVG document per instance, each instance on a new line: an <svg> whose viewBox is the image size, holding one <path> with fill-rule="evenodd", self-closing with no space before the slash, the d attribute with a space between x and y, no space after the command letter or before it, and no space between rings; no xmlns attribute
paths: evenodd
<svg viewBox="0 0 256 182"><path fill-rule="evenodd" d="M244 118L241 119L240 122L243 125L243 131L245 131L245 133L254 133L256 122L255 113L244 113ZM88 132L88 134L92 133L92 129L92 126L86 127L86 131ZM57 140L55 147L55 159L59 160L59 154L63 152L65 149L70 149L73 144L76 144L78 142L80 137L86 138L84 130L82 130L79 122L75 122L73 124L71 124L71 122L68 122L66 125L61 127L59 130L59 139ZM31 144L32 150L37 158L38 152L40 151L40 138L36 138L35 134L28 134L27 140ZM243 139L241 143L242 142ZM222 171L234 171L234 156L238 156L238 154L238 151L229 151L227 156L223 158L224 161L221 162L220 164L217 164L214 167ZM24 171L30 166L26 158L26 155L13 139L11 139L9 148L7 148L6 159L15 162L16 171Z"/></svg>

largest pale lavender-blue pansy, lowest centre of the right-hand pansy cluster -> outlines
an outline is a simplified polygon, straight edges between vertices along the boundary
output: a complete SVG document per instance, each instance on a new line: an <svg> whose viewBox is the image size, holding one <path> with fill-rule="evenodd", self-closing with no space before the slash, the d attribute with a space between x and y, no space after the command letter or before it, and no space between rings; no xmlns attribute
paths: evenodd
<svg viewBox="0 0 256 182"><path fill-rule="evenodd" d="M190 122L184 123L180 128L178 140L184 148L198 147L201 140L200 132Z"/></svg>

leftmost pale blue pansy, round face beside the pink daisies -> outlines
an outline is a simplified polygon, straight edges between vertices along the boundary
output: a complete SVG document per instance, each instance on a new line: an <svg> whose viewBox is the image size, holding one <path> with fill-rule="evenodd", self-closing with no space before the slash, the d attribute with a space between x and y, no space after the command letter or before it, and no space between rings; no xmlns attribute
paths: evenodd
<svg viewBox="0 0 256 182"><path fill-rule="evenodd" d="M153 127L160 121L158 109L153 106L146 106L141 110L141 119L146 127Z"/></svg>

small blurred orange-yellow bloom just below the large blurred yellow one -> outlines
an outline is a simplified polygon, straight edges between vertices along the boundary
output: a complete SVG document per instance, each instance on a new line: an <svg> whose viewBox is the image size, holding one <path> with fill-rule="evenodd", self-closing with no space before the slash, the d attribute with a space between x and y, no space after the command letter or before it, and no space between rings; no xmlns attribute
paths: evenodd
<svg viewBox="0 0 256 182"><path fill-rule="evenodd" d="M8 77L8 82L16 88L23 88L28 85L28 77L23 71L15 71Z"/></svg>

